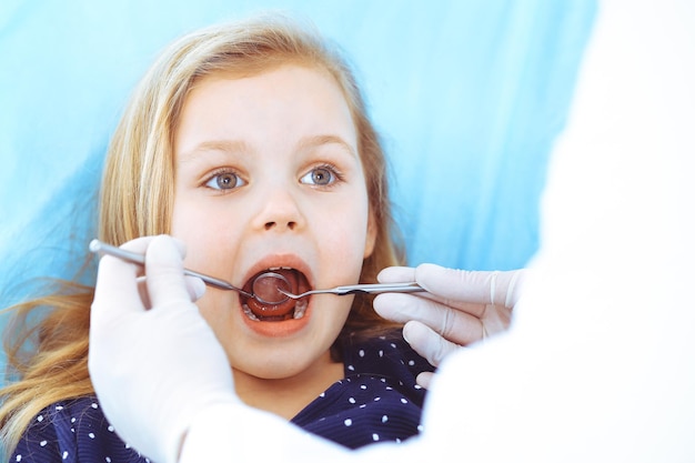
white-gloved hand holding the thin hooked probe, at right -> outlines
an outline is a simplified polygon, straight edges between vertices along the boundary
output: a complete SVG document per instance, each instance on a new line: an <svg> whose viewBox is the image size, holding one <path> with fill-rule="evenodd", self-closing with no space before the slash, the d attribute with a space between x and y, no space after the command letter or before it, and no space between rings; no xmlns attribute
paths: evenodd
<svg viewBox="0 0 695 463"><path fill-rule="evenodd" d="M437 366L453 350L510 325L524 272L471 272L434 264L387 268L379 274L380 282L415 281L427 292L380 294L374 299L374 310L385 319L405 323L403 338ZM426 387L431 378L431 373L422 373L417 382Z"/></svg>

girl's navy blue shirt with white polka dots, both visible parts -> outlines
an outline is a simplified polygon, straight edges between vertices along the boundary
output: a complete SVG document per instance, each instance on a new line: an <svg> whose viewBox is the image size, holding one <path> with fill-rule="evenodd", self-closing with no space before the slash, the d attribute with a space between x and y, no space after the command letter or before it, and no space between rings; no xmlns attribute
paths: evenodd
<svg viewBox="0 0 695 463"><path fill-rule="evenodd" d="M425 390L415 376L434 371L404 341L372 339L344 345L345 378L291 421L350 449L402 442L420 432ZM94 396L61 401L29 425L10 462L144 463L109 424Z"/></svg>

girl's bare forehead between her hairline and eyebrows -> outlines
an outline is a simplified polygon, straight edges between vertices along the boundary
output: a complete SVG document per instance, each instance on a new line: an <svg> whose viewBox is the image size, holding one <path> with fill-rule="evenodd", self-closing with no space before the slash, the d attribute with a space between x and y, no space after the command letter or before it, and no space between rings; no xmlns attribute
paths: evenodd
<svg viewBox="0 0 695 463"><path fill-rule="evenodd" d="M342 88L325 69L299 64L260 73L215 72L191 87L174 133L175 151L207 140L338 135L356 151Z"/></svg>

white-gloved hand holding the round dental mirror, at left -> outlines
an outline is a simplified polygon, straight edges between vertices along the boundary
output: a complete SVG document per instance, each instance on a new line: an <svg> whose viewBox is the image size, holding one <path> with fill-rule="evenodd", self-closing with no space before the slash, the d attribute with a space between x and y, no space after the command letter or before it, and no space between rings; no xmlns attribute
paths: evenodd
<svg viewBox="0 0 695 463"><path fill-rule="evenodd" d="M170 236L123 245L145 254L142 268L104 255L91 313L89 371L117 433L151 460L175 462L198 413L238 402L226 354L192 302L183 246Z"/></svg>

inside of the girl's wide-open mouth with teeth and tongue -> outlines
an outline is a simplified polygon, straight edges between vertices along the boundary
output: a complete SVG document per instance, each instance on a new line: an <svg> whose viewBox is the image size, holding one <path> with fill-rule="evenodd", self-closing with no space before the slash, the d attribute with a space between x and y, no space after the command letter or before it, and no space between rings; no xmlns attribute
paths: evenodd
<svg viewBox="0 0 695 463"><path fill-rule="evenodd" d="M300 294L311 289L306 276L296 269L271 268L253 275L243 290L255 298L241 296L245 315L260 322L282 322L301 319L306 312L309 298L298 300L284 296L279 289Z"/></svg>

